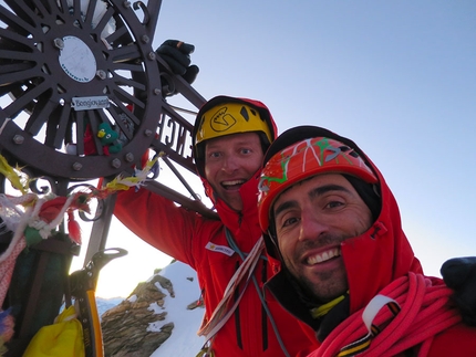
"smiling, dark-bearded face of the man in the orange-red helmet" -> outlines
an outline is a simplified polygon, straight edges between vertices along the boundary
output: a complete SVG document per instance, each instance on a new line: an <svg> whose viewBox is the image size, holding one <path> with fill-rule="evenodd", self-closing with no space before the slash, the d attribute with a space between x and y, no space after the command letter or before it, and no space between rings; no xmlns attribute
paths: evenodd
<svg viewBox="0 0 476 357"><path fill-rule="evenodd" d="M303 288L322 303L345 293L340 244L372 224L352 185L338 174L314 176L281 193L272 213L284 264Z"/></svg>

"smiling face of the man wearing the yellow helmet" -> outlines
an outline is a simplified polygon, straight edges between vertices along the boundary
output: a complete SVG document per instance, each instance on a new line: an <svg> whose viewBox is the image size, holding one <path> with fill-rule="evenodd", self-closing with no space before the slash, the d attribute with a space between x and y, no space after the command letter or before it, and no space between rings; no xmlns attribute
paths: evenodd
<svg viewBox="0 0 476 357"><path fill-rule="evenodd" d="M232 134L206 141L205 177L232 209L242 209L239 189L261 167L263 153L258 134Z"/></svg>

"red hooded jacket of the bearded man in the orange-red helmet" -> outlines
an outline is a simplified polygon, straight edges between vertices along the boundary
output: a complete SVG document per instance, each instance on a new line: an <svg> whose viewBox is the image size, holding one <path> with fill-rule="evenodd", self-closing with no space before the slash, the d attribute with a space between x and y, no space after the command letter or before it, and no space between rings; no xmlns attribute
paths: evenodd
<svg viewBox="0 0 476 357"><path fill-rule="evenodd" d="M335 138L356 148L356 145L350 140L339 136ZM361 150L358 149L356 151L365 157ZM362 324L362 311L377 294L395 297L402 309L400 315L396 314L394 321L402 319L396 324L382 327L382 332L371 342L371 347L360 356L476 356L476 328L465 326L459 322L459 315L449 300L452 292L444 285L443 281L423 275L422 266L402 230L397 203L381 172L369 159L368 161L379 178L382 210L366 232L360 237L348 239L341 244L348 274L349 295L323 318L313 319L310 316L312 304L302 293L289 290L290 279L281 270L281 262L276 252L271 254L275 258L270 256L276 275L269 281L267 287L289 312L311 326L320 336L321 347L309 357L337 356L335 350L339 351L340 348L355 340L355 338L350 337L355 335L354 332L359 332L356 333L358 337L364 337L368 330ZM267 246L272 246L269 238L265 239ZM408 282L420 282L421 288L412 292L411 288L407 288L411 285ZM415 284L412 286L417 286ZM396 291L395 286L403 286L403 290ZM435 296L432 295L435 292L438 294L437 298L428 297ZM412 308L420 304L417 298L410 296L417 296L418 298L425 296L427 301L431 301L428 306L436 306L438 303L442 303L442 306L430 316L422 313L425 307L418 307L416 317L403 318L403 316L412 315ZM410 313L405 315L408 311ZM452 321L452 326L443 330L435 330L434 334L428 333L432 328L436 328L436 314L446 316L447 321ZM416 323L417 317L422 318L421 325ZM392 333L382 338L389 330ZM362 332L364 333L361 334ZM414 342L415 336L422 332L426 334L424 342ZM389 343L392 338L396 339L394 344ZM342 343L339 342L341 339ZM379 343L381 344L380 348L384 349L375 351ZM396 348L395 345L399 344L401 344L400 346L405 344L404 353L389 353L390 348ZM423 353L422 350L426 351Z"/></svg>

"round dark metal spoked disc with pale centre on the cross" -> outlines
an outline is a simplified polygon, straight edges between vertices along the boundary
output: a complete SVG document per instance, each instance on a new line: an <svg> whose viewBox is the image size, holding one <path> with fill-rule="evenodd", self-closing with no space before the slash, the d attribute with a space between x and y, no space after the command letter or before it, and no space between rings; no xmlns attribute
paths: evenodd
<svg viewBox="0 0 476 357"><path fill-rule="evenodd" d="M154 139L147 133L156 130L162 96L151 29L135 8L155 23L144 4L117 0L0 6L1 148L74 179L115 175L141 157ZM99 137L101 124L115 141Z"/></svg>

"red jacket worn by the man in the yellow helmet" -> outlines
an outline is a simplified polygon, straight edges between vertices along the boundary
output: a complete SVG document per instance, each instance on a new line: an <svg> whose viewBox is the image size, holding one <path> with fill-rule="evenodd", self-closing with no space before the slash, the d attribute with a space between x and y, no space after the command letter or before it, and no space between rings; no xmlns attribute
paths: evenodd
<svg viewBox="0 0 476 357"><path fill-rule="evenodd" d="M259 102L252 104L262 105ZM237 253L230 252L225 227L244 253L250 252L261 235L257 212L258 179L259 172L241 187L241 212L214 198L208 182L203 180L221 220L207 219L178 208L146 189L137 192L132 189L117 197L114 214L128 229L151 245L196 270L206 318L221 301L230 277L242 263ZM218 249L211 250L210 246ZM253 275L262 290L271 276L269 264L260 260ZM312 329L307 326L302 329L298 321L276 301L268 302L268 306L290 356L297 356L298 351L304 356L306 351L318 346ZM252 282L248 284L235 313L216 335L213 349L216 357L286 356Z"/></svg>

